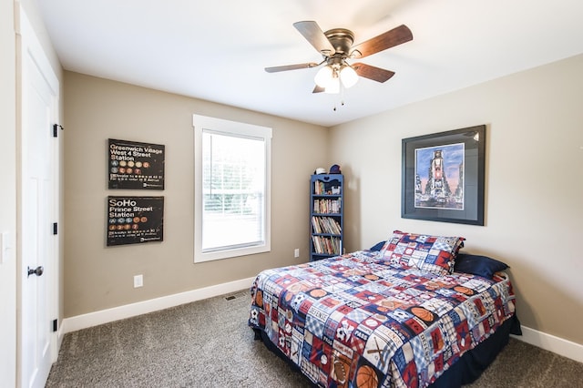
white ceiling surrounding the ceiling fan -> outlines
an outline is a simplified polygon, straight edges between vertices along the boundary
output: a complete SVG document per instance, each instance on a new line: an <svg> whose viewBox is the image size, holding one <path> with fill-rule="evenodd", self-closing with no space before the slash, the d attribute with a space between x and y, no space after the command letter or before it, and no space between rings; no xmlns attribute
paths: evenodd
<svg viewBox="0 0 583 388"><path fill-rule="evenodd" d="M66 70L332 126L583 53L581 0L38 0ZM400 26L414 39L361 61L395 72L312 94L320 62L292 26ZM333 107L337 109L334 111Z"/></svg>

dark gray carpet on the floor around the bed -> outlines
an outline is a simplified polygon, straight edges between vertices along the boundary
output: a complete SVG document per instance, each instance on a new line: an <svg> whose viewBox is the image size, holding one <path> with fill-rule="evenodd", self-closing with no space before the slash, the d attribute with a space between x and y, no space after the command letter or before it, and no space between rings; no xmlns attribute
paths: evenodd
<svg viewBox="0 0 583 388"><path fill-rule="evenodd" d="M46 387L309 387L253 340L250 303L245 290L67 333ZM583 387L583 364L511 339L468 386Z"/></svg>

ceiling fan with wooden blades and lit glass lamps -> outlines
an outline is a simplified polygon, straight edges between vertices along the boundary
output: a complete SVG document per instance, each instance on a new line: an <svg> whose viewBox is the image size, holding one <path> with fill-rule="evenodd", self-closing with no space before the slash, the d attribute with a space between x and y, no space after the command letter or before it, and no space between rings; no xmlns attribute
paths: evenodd
<svg viewBox="0 0 583 388"><path fill-rule="evenodd" d="M411 30L407 26L402 25L353 46L354 34L348 29L333 28L322 32L320 26L314 21L296 22L293 26L318 50L323 57L322 62L265 67L265 71L268 73L277 73L280 71L312 68L326 64L318 71L316 77L314 77L316 87L314 87L312 93L338 93L341 84L343 87L352 87L359 76L377 82L385 82L394 76L393 71L360 62L349 64L347 59L360 59L365 56L371 56L413 39Z"/></svg>

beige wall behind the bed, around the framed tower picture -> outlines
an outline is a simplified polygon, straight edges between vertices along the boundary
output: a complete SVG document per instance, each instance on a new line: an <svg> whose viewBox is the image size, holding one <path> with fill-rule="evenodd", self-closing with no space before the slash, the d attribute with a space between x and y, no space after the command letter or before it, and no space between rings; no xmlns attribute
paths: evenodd
<svg viewBox="0 0 583 388"><path fill-rule="evenodd" d="M504 260L523 325L583 344L583 56L336 128L346 247L395 229L461 235ZM384 87L391 87L387 84ZM401 219L401 140L486 124L486 226Z"/></svg>

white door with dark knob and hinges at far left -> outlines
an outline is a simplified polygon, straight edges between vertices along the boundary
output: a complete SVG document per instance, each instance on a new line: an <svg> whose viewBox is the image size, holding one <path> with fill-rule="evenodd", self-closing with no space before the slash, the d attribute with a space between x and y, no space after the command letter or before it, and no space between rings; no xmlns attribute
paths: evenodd
<svg viewBox="0 0 583 388"><path fill-rule="evenodd" d="M21 9L19 385L43 387L55 358L58 81Z"/></svg>

